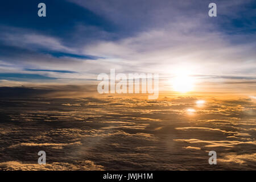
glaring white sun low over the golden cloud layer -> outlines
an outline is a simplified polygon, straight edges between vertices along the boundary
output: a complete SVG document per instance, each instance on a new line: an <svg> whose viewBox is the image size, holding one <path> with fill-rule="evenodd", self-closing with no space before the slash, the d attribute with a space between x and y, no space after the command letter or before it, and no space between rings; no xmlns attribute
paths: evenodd
<svg viewBox="0 0 256 182"><path fill-rule="evenodd" d="M172 87L175 92L190 92L193 90L194 80L188 75L177 75L172 79Z"/></svg>

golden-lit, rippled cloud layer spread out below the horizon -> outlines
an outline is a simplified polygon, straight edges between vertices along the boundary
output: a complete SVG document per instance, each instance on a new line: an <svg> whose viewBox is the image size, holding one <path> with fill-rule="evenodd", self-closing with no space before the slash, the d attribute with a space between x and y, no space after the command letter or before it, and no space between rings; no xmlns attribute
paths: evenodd
<svg viewBox="0 0 256 182"><path fill-rule="evenodd" d="M255 169L255 102L248 98L20 97L0 104L1 169ZM36 164L41 150L44 167ZM216 166L208 163L212 150Z"/></svg>

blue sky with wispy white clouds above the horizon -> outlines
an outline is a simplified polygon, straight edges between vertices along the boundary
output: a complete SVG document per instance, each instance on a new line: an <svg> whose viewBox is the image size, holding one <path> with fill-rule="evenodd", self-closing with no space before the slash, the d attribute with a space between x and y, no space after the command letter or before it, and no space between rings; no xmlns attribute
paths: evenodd
<svg viewBox="0 0 256 182"><path fill-rule="evenodd" d="M1 2L0 85L84 84L111 68L255 85L255 1L214 1L209 17L211 2Z"/></svg>

